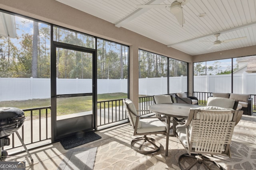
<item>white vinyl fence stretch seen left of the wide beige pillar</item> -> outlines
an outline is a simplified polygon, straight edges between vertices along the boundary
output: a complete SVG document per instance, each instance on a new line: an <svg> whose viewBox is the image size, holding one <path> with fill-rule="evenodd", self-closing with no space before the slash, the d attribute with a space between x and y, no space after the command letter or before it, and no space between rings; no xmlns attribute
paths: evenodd
<svg viewBox="0 0 256 170"><path fill-rule="evenodd" d="M127 93L127 79L98 80L98 94ZM50 78L0 78L0 101L50 98ZM91 79L57 78L57 94L92 93Z"/></svg>

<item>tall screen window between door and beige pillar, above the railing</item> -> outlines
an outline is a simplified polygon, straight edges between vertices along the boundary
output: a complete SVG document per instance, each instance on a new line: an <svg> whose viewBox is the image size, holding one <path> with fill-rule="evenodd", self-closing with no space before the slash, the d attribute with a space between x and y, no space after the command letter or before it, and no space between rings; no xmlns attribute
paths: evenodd
<svg viewBox="0 0 256 170"><path fill-rule="evenodd" d="M98 100L128 97L128 51L125 45L98 39Z"/></svg>

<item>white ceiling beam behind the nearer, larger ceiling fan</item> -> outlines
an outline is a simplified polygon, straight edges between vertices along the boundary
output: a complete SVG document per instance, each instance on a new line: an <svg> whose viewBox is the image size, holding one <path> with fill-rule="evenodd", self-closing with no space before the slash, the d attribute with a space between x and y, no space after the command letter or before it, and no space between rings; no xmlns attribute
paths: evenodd
<svg viewBox="0 0 256 170"><path fill-rule="evenodd" d="M164 1L165 0L150 0L149 2L147 2L144 5L156 5L156 4L161 4ZM125 23L133 20L134 18L137 18L138 16L140 16L144 12L147 12L148 10L150 10L150 8L137 8L134 12L132 12L128 16L125 16L122 20L117 21L115 23L115 26L118 28L122 27Z"/></svg>

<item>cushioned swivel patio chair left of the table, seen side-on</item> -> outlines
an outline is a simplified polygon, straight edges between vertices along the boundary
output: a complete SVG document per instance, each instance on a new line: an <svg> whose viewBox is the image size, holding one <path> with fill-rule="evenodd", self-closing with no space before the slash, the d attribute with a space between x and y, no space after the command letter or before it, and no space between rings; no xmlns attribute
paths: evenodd
<svg viewBox="0 0 256 170"><path fill-rule="evenodd" d="M161 144L151 137L146 135L165 134L166 123L159 120L160 117L141 117L138 115L133 102L130 99L124 99L124 106L128 113L128 118L134 129L133 135L143 135L132 140L131 147L133 150L142 153L150 154L160 150Z"/></svg>

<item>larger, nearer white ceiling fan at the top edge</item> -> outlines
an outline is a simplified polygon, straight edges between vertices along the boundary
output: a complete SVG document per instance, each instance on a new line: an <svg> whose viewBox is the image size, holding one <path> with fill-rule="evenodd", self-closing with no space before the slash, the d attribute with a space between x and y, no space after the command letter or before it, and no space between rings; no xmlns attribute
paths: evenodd
<svg viewBox="0 0 256 170"><path fill-rule="evenodd" d="M174 0L172 4L164 5L137 5L138 8L170 8L170 12L176 17L179 24L183 26L185 23L183 8L182 6L186 5L190 0Z"/></svg>

